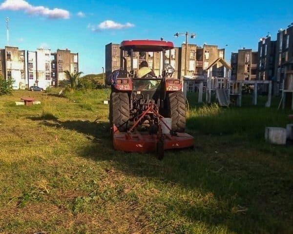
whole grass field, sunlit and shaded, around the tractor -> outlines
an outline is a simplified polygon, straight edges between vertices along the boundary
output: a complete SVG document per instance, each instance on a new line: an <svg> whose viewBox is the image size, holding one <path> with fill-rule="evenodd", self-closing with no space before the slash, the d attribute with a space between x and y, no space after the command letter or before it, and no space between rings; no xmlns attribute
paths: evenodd
<svg viewBox="0 0 293 234"><path fill-rule="evenodd" d="M264 141L290 112L190 95L195 148L158 161L112 149L109 90L56 93L0 97L1 234L293 233L293 146Z"/></svg>

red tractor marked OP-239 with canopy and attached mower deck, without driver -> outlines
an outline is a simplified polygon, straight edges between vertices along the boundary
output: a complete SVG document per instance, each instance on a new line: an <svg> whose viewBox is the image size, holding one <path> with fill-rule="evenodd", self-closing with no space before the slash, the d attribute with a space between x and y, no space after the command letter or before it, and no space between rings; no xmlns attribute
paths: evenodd
<svg viewBox="0 0 293 234"><path fill-rule="evenodd" d="M164 65L162 76L153 73L138 78L133 71L133 52L163 52L173 43L157 40L127 40L121 49L130 55L131 69L114 71L107 83L111 85L109 120L114 149L125 152L157 151L160 159L166 149L193 147L193 137L184 133L186 104L182 83L172 78L174 69ZM166 120L171 120L171 124ZM167 129L167 132L166 132Z"/></svg>

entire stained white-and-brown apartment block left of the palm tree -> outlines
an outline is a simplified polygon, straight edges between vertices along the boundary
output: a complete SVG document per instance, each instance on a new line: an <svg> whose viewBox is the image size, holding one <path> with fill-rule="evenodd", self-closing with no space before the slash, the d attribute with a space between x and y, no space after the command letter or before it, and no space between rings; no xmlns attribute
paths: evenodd
<svg viewBox="0 0 293 234"><path fill-rule="evenodd" d="M0 75L4 79L15 80L14 89L27 89L38 85L46 89L57 86L64 80L64 71L79 72L78 53L70 50L57 50L51 53L50 49L36 51L19 50L18 47L5 46L0 49Z"/></svg>

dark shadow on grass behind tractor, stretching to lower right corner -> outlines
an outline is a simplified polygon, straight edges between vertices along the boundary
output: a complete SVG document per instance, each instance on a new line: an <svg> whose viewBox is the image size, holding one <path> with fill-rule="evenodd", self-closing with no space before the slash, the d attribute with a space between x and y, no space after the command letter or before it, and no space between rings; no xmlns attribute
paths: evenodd
<svg viewBox="0 0 293 234"><path fill-rule="evenodd" d="M114 151L109 124L106 122L56 120L42 121L42 124L77 131L90 137L92 143L80 148L83 157L96 161L107 160L126 175L147 177L156 184L158 190L175 186L177 193L187 190L195 197L198 196L194 198L194 203L187 202L180 195L158 197L159 200L163 199L158 202L163 203L166 210L162 212L152 208L152 212L162 218L175 212L193 223L204 222L210 230L227 227L228 232L236 233L293 231L292 224L288 224L293 220L290 213L292 178L278 169L272 173L271 169L262 165L228 162L227 157L213 151L214 147L222 146L218 138L199 136L206 137L203 140L195 136L195 140L204 143L194 150L167 152L165 159L158 161L152 154ZM224 148L226 155L235 157L235 152L231 152L234 149ZM245 149L241 148L240 151Z"/></svg>

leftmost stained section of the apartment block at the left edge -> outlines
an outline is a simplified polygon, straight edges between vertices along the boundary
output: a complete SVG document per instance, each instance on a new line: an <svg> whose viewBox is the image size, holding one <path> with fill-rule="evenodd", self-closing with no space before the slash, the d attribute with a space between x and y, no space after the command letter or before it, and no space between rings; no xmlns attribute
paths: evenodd
<svg viewBox="0 0 293 234"><path fill-rule="evenodd" d="M25 51L18 47L5 46L0 50L0 74L4 79L15 80L14 89L25 89Z"/></svg>

